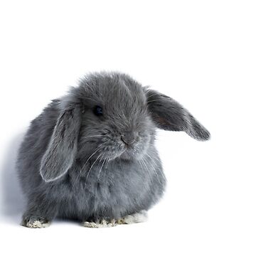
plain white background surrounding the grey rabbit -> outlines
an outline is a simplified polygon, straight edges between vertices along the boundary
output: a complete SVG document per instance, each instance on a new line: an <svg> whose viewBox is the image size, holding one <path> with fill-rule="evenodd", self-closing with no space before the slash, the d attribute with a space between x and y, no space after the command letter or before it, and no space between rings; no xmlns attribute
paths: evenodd
<svg viewBox="0 0 256 256"><path fill-rule="evenodd" d="M0 2L1 255L255 255L255 1ZM85 73L119 70L211 132L159 132L168 187L146 223L19 225L16 149ZM3 254L4 250L4 254Z"/></svg>

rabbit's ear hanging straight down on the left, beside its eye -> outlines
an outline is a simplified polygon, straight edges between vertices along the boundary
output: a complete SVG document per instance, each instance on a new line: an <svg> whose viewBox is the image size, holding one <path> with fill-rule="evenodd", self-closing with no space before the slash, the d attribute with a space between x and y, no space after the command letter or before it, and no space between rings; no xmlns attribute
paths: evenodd
<svg viewBox="0 0 256 256"><path fill-rule="evenodd" d="M55 181L73 164L78 146L80 110L63 110L53 130L48 149L41 161L40 174L44 181Z"/></svg>

